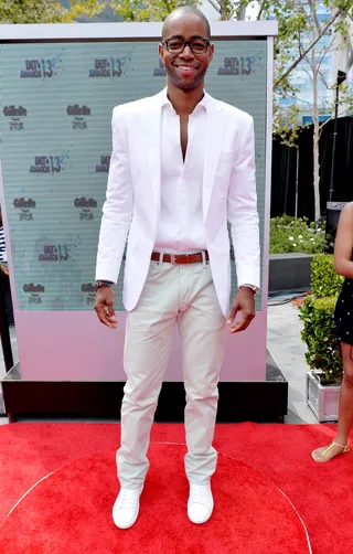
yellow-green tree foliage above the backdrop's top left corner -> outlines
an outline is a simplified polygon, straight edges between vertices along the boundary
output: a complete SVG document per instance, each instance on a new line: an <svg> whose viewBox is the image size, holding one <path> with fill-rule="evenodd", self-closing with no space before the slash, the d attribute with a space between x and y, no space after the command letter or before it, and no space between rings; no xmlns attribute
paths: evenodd
<svg viewBox="0 0 353 554"><path fill-rule="evenodd" d="M104 10L99 0L72 0L67 8L53 0L0 0L0 23L71 23Z"/></svg>

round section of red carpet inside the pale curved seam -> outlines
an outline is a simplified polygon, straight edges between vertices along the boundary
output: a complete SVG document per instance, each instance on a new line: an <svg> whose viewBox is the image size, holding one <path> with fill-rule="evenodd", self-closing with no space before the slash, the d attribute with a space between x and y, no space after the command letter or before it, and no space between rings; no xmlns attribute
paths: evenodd
<svg viewBox="0 0 353 554"><path fill-rule="evenodd" d="M204 526L189 522L188 484L180 470L184 454L179 445L151 446L140 516L128 532L111 521L117 492L114 452L75 460L39 483L7 519L0 552L309 552L303 525L274 483L224 455L214 478L213 518Z"/></svg>

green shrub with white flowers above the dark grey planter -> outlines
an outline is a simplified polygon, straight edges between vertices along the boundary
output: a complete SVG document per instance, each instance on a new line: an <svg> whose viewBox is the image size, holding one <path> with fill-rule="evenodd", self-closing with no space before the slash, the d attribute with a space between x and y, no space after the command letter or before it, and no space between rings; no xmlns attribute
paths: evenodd
<svg viewBox="0 0 353 554"><path fill-rule="evenodd" d="M309 223L307 217L284 215L270 220L270 254L318 254L324 248L324 226Z"/></svg>

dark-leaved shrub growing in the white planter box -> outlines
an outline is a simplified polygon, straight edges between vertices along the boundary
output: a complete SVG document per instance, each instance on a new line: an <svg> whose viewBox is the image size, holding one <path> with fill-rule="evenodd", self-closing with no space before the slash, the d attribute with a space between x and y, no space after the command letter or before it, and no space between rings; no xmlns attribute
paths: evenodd
<svg viewBox="0 0 353 554"><path fill-rule="evenodd" d="M308 347L306 359L311 370L324 373L324 384L339 383L343 373L339 341L334 335L334 306L336 297L313 298L308 296L300 309L303 321L301 339Z"/></svg>

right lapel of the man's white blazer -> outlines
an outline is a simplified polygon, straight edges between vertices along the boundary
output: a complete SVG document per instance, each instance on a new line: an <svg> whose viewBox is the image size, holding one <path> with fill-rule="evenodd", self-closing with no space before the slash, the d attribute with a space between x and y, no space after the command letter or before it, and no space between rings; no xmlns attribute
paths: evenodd
<svg viewBox="0 0 353 554"><path fill-rule="evenodd" d="M222 152L223 135L225 130L225 119L222 114L222 103L207 95L206 107L206 137L205 157L203 168L203 196L202 211L203 220L206 221L214 185L215 172Z"/></svg>

